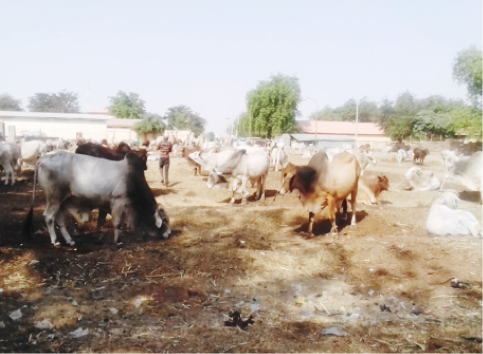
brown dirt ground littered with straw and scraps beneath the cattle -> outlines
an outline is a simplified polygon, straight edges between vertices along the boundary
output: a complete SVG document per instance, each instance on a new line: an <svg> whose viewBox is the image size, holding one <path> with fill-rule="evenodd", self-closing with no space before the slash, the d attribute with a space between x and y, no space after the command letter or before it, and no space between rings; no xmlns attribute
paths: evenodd
<svg viewBox="0 0 483 354"><path fill-rule="evenodd" d="M270 172L265 201L230 205L229 192L207 189L185 160L171 160L168 188L150 162L146 177L172 236L125 232L120 249L110 221L96 232L97 215L87 225L70 220L75 247L50 246L41 191L38 231L26 242L31 171L1 184L0 352L482 353L482 239L430 236L438 193L403 190L412 163L376 158L366 173L385 173L392 189L379 205L359 204L357 226L339 222L336 239L323 216L316 237L304 236L308 212L295 195L273 200L279 172ZM425 168L442 177L439 154ZM461 197L482 222L479 197ZM451 287L455 277L462 288ZM253 324L226 326L233 311ZM35 327L43 320L52 328ZM341 336L324 335L333 327ZM87 334L74 338L79 328Z"/></svg>

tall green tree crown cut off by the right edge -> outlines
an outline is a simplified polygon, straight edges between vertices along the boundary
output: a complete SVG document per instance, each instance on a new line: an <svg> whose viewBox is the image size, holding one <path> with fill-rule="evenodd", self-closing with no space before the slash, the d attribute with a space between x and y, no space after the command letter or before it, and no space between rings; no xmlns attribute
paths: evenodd
<svg viewBox="0 0 483 354"><path fill-rule="evenodd" d="M483 55L475 47L458 53L453 66L453 78L468 88L474 106L482 107Z"/></svg>

